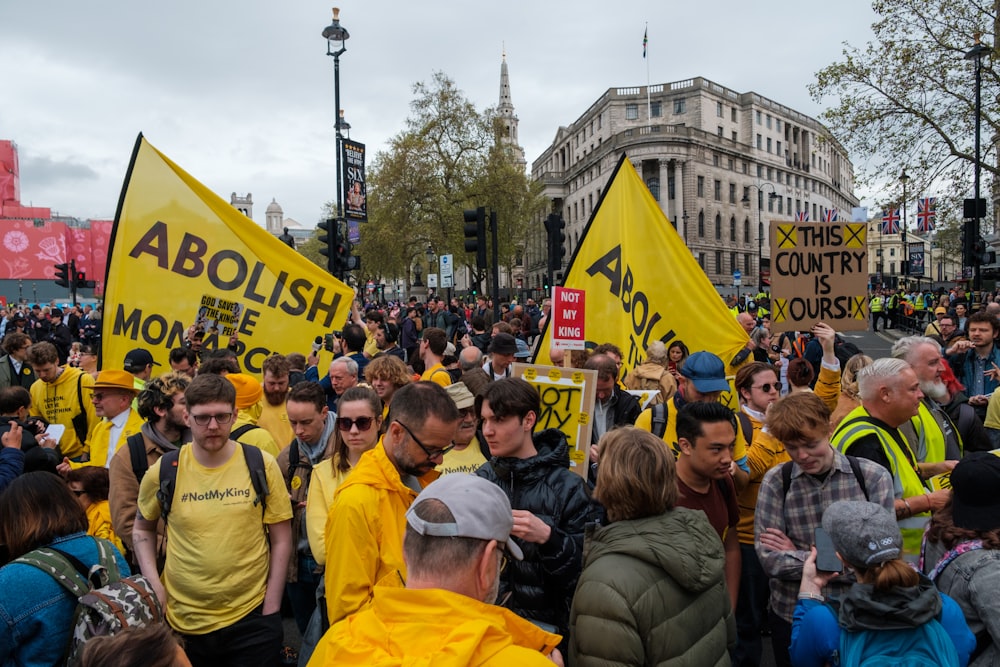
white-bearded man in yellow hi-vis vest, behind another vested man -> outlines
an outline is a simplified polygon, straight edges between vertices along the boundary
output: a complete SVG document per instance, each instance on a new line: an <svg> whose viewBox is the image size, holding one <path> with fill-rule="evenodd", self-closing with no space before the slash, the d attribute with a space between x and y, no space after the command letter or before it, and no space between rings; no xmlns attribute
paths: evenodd
<svg viewBox="0 0 1000 667"><path fill-rule="evenodd" d="M907 336L892 346L892 356L910 364L924 393L919 412L899 427L917 457L924 479L947 472L962 458L962 436L942 407L951 398L941 379L941 347L933 338Z"/></svg>

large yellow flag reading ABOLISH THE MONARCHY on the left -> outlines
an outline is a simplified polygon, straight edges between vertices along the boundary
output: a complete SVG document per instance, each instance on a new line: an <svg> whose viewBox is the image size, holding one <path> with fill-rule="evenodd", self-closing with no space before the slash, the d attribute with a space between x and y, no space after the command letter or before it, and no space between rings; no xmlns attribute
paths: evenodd
<svg viewBox="0 0 1000 667"><path fill-rule="evenodd" d="M108 253L105 368L142 347L170 370L170 350L196 326L205 349L235 333L240 366L259 374L272 353L305 353L339 329L353 298L139 135Z"/></svg>

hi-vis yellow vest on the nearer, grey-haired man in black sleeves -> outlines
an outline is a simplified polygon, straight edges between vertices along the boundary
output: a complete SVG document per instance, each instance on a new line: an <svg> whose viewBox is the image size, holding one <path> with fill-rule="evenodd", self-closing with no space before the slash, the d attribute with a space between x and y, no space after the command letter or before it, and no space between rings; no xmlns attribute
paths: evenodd
<svg viewBox="0 0 1000 667"><path fill-rule="evenodd" d="M927 493L923 480L916 469L916 457L910 451L899 429L890 433L871 421L871 415L863 405L859 405L844 417L840 426L830 438L832 444L840 453L849 454L852 444L861 438L874 434L878 437L882 452L889 460L889 471L892 473L893 493L896 498L913 498ZM943 446L943 445L942 445ZM904 557L915 561L920 557L920 542L924 527L930 521L930 512L916 514L908 519L898 519L900 531L903 533Z"/></svg>

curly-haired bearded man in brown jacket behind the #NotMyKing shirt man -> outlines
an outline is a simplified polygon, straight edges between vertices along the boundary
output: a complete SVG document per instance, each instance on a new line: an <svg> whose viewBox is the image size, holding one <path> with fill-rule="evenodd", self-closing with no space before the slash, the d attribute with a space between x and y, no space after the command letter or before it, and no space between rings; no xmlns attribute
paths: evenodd
<svg viewBox="0 0 1000 667"><path fill-rule="evenodd" d="M115 534L132 551L132 526L139 499L139 482L146 470L166 452L177 449L191 439L184 421L184 390L191 382L185 373L165 373L150 380L136 399L139 416L146 420L139 433L130 436L111 458L108 466L111 523ZM135 464L138 463L138 468ZM163 536L163 525L158 528ZM162 541L162 540L161 540ZM162 545L157 549L160 564L164 556Z"/></svg>

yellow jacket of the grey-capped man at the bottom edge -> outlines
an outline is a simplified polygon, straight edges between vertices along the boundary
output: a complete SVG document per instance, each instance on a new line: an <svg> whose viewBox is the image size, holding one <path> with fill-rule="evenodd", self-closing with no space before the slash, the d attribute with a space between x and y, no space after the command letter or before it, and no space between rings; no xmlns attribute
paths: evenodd
<svg viewBox="0 0 1000 667"><path fill-rule="evenodd" d="M332 626L309 667L542 667L559 643L513 612L438 588L378 586L367 609Z"/></svg>

